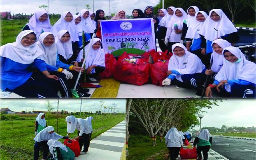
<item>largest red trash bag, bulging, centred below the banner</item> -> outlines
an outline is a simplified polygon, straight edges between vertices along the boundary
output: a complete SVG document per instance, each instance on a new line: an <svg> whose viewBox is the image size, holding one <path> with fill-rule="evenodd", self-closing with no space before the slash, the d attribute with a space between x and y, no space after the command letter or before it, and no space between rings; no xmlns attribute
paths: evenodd
<svg viewBox="0 0 256 160"><path fill-rule="evenodd" d="M138 59L136 64L132 64L124 61L124 58L129 58L131 56L141 56L142 58ZM141 86L148 82L149 78L149 68L150 64L148 63L148 53L145 52L142 55L136 54L127 54L124 52L117 60L115 71L113 76L116 80L135 84Z"/></svg>

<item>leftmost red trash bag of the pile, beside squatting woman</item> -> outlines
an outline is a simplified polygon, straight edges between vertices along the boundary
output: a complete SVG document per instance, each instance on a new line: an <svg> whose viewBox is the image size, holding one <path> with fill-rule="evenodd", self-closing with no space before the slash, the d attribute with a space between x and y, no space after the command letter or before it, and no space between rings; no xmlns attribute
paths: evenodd
<svg viewBox="0 0 256 160"><path fill-rule="evenodd" d="M112 72L114 71L116 65L116 58L114 58L113 54L105 54L105 70L99 74L100 79L111 78Z"/></svg>

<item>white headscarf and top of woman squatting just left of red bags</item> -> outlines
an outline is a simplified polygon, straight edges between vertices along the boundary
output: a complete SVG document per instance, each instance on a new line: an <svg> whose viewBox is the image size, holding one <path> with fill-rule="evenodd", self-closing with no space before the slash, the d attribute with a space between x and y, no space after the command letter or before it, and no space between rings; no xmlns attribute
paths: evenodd
<svg viewBox="0 0 256 160"><path fill-rule="evenodd" d="M95 44L96 42L100 41L101 43L101 40L100 38L93 38L93 41L92 41L92 45ZM89 49L89 45L87 45L84 50L85 52ZM80 62L81 59L84 58L83 57L83 50L81 50L77 56L77 59L76 61ZM92 65L96 65L96 66L102 66L102 67L105 67L105 53L104 53L104 50L100 47L98 48L97 50L94 50L92 48L92 46L90 47L90 51L89 51L89 54L87 55L86 57L86 61L85 61L85 66L86 66L86 69ZM95 73L95 68L93 68L91 70L91 73Z"/></svg>

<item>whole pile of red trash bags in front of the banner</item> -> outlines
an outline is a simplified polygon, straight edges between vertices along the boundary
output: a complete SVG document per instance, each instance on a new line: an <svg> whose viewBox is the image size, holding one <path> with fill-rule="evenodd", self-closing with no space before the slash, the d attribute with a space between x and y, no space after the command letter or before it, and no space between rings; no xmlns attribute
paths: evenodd
<svg viewBox="0 0 256 160"><path fill-rule="evenodd" d="M124 52L118 60L112 54L105 54L104 72L99 78L111 78L135 85L142 85L151 79L152 84L162 86L167 77L168 62L172 53L150 50L142 55Z"/></svg>

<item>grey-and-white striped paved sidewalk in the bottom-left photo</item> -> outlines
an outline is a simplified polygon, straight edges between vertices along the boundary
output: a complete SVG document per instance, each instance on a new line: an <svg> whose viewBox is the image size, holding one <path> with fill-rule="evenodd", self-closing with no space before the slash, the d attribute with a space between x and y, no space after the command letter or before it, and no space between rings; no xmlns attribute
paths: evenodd
<svg viewBox="0 0 256 160"><path fill-rule="evenodd" d="M125 123L124 120L91 140L88 152L75 160L120 160L125 146Z"/></svg>

